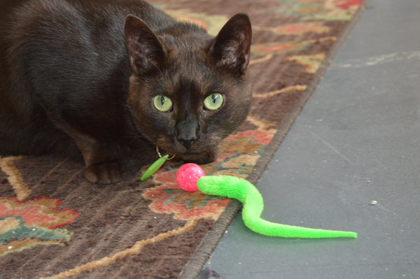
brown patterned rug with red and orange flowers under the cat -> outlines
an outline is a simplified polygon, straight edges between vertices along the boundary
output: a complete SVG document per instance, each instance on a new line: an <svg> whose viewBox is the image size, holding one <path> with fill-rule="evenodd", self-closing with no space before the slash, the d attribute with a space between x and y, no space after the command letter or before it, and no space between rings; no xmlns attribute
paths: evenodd
<svg viewBox="0 0 420 279"><path fill-rule="evenodd" d="M255 183L363 0L151 2L211 34L235 13L251 17L251 112L203 169ZM145 182L148 162L127 163L123 182L93 185L81 161L0 157L0 278L196 278L240 205L183 192L180 162Z"/></svg>

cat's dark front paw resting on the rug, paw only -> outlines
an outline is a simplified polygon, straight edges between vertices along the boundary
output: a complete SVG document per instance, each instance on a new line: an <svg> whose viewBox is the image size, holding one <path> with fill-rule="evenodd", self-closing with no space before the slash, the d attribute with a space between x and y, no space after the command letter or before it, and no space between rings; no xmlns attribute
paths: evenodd
<svg viewBox="0 0 420 279"><path fill-rule="evenodd" d="M113 184L123 179L124 164L120 161L97 163L87 166L85 178L91 183Z"/></svg>

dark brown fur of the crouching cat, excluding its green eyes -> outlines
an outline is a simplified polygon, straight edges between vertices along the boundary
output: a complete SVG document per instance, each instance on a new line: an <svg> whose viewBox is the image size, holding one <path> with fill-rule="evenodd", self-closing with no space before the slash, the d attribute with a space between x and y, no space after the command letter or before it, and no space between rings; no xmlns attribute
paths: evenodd
<svg viewBox="0 0 420 279"><path fill-rule="evenodd" d="M64 152L74 142L98 183L120 180L117 147L141 141L214 161L248 113L250 45L243 14L213 38L140 0L1 0L0 155ZM206 110L214 93L223 105ZM158 111L156 95L172 110Z"/></svg>

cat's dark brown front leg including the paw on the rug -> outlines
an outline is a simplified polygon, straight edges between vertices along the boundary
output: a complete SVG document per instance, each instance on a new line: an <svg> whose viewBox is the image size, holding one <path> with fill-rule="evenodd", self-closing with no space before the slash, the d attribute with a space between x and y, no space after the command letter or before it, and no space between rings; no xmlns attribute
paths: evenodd
<svg viewBox="0 0 420 279"><path fill-rule="evenodd" d="M116 151L91 136L71 134L85 160L85 178L92 183L111 184L123 179L125 168Z"/></svg>

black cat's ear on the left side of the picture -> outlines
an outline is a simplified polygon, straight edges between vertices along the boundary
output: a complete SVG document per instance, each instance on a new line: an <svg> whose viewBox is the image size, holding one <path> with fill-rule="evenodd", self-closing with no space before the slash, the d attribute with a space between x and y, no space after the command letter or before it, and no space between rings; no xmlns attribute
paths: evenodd
<svg viewBox="0 0 420 279"><path fill-rule="evenodd" d="M134 73L139 75L160 71L166 61L166 52L155 32L135 15L127 15L124 29L125 44Z"/></svg>

